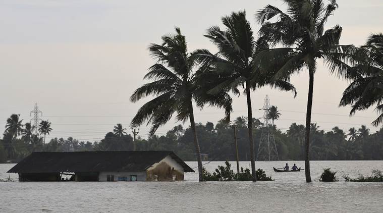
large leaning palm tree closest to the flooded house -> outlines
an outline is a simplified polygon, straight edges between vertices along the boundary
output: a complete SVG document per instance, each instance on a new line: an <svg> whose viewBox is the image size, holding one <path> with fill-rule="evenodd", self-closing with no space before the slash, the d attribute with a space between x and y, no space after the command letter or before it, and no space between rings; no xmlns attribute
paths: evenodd
<svg viewBox="0 0 383 213"><path fill-rule="evenodd" d="M207 94L205 91L208 90L209 85L198 83L201 80L198 77L200 71L193 72L197 62L190 56L185 36L181 34L180 28L176 28L176 34L162 36L162 41L161 45L150 44L149 46L150 55L158 62L149 68L145 79L154 81L136 89L130 100L136 102L149 95L156 97L138 110L131 125L140 126L148 121L148 124L152 124L149 135L153 136L157 128L166 124L175 113L178 121L185 122L189 119L198 161L199 181L203 181L193 100L200 108L205 104L225 108L226 120L229 121L232 99L226 92Z"/></svg>

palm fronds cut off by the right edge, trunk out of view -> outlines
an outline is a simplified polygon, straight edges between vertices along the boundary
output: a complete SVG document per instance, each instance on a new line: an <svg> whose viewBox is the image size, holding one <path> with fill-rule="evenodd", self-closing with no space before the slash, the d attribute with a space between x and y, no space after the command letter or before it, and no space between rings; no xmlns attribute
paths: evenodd
<svg viewBox="0 0 383 213"><path fill-rule="evenodd" d="M356 111L366 110L376 104L380 114L372 124L383 121L383 33L372 34L361 46L356 65L352 67L354 81L343 92L340 105L352 105L350 116Z"/></svg>

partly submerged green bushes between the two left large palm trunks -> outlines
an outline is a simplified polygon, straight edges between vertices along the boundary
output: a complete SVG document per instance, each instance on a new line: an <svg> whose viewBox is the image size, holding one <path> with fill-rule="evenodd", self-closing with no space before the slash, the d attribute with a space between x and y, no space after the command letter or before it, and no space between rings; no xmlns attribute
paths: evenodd
<svg viewBox="0 0 383 213"><path fill-rule="evenodd" d="M249 169L243 169L241 167L241 172L239 174L235 174L233 170L231 170L231 165L229 162L225 162L224 166L218 166L217 169L215 169L215 172L213 174L206 171L206 169L203 167L203 179L205 181L251 181L252 175ZM271 177L267 177L265 172L261 169L258 169L256 171L257 180L259 181L272 181Z"/></svg>

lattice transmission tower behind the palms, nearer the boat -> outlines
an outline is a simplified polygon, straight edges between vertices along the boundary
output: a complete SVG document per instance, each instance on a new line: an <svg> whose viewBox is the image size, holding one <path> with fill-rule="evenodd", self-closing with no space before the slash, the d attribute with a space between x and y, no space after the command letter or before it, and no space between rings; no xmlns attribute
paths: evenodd
<svg viewBox="0 0 383 213"><path fill-rule="evenodd" d="M279 161L276 140L270 129L271 119L268 115L270 112L270 99L268 98L268 95L266 95L263 108L260 110L263 110L264 114L256 160L258 161L259 159L260 161Z"/></svg>

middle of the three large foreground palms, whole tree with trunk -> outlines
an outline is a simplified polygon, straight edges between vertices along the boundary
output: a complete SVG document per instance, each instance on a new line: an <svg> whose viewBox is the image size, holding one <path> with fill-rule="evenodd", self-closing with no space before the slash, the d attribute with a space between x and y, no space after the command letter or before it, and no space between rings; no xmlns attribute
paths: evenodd
<svg viewBox="0 0 383 213"><path fill-rule="evenodd" d="M259 72L261 68L254 58L260 51L268 49L268 44L263 38L255 39L250 23L246 20L245 11L233 12L230 16L223 17L222 22L226 27L225 30L212 26L205 35L216 45L218 53L211 54L207 49L198 49L194 52L194 56L201 63L211 65L210 69L206 69L203 74L212 76L215 80L215 82L209 82L215 86L208 93L214 94L230 89L235 95L240 95L239 88L244 89L247 99L251 170L253 181L256 181L251 91L264 85L294 92L295 88L285 80L268 81L270 73Z"/></svg>

